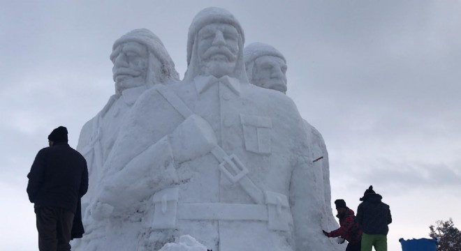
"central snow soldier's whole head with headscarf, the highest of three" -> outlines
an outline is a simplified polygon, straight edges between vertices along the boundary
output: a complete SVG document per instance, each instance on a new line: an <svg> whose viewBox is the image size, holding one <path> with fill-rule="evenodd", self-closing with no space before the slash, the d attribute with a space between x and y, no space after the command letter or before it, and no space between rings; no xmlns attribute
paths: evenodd
<svg viewBox="0 0 461 251"><path fill-rule="evenodd" d="M197 75L230 76L248 82L243 62L244 33L235 17L222 8L205 8L193 18L187 40L184 79Z"/></svg>

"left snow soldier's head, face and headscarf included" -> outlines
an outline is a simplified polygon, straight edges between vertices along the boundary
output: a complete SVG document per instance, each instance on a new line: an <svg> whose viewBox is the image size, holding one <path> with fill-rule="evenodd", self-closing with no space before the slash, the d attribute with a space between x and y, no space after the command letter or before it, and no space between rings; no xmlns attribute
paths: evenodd
<svg viewBox="0 0 461 251"><path fill-rule="evenodd" d="M179 80L175 63L161 40L148 29L135 29L117 39L110 60L115 91Z"/></svg>

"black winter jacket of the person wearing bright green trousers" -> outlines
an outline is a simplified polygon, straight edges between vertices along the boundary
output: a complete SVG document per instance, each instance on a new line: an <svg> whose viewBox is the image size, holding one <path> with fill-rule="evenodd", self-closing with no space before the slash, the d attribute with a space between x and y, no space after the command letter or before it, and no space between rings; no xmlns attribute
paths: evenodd
<svg viewBox="0 0 461 251"><path fill-rule="evenodd" d="M368 194L358 205L357 220L365 234L388 234L392 216L388 204L381 199L381 195Z"/></svg>

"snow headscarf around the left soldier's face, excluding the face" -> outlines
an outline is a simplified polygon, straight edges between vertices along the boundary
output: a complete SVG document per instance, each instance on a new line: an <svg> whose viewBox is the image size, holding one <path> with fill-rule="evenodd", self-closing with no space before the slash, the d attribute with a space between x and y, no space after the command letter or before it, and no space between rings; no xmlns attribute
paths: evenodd
<svg viewBox="0 0 461 251"><path fill-rule="evenodd" d="M148 73L146 79L147 84L166 83L180 79L180 75L175 69L175 63L171 59L170 54L166 51L166 48L160 38L148 29L134 29L115 40L114 45L112 45L112 54L110 55L112 63L114 63L115 57L119 54L117 47L129 42L136 42L141 45L145 45L147 51L149 52L149 67L147 69ZM153 56L155 59L152 58ZM156 61L157 63L159 61L161 65L155 65Z"/></svg>

